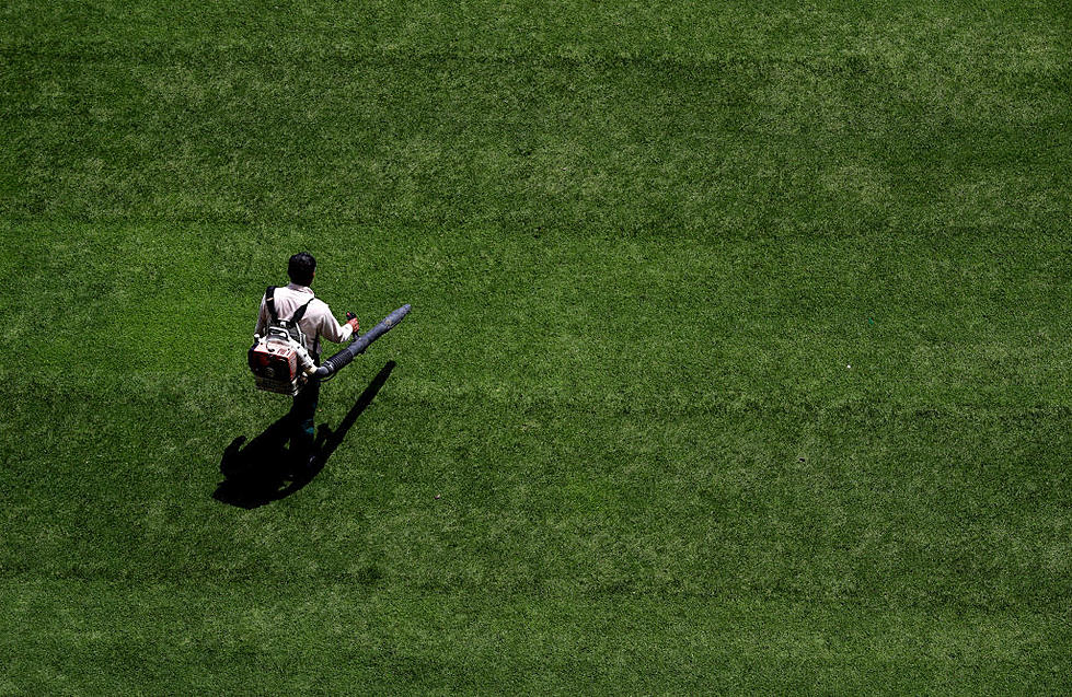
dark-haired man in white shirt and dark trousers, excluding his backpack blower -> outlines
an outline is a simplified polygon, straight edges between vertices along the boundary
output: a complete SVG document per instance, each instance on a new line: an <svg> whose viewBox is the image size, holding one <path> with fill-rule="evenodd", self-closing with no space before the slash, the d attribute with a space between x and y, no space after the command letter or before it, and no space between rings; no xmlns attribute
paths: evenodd
<svg viewBox="0 0 1072 697"><path fill-rule="evenodd" d="M285 288L269 289L261 299L261 313L257 315L257 326L254 334L264 336L273 315L286 320L304 307L298 326L306 337L306 350L319 365L321 337L335 344L349 340L358 330L357 317L354 313L348 312L346 313L347 322L339 324L327 303L313 294L309 287L312 286L313 278L316 276L316 259L308 252L301 252L290 257L287 275L290 277L289 284ZM274 313L269 305L275 306ZM316 453L313 450L315 443L313 420L316 417L319 399L320 381L307 381L301 391L295 395L293 405L287 415L292 432L290 452L293 462L304 465L307 469L313 469L316 465Z"/></svg>

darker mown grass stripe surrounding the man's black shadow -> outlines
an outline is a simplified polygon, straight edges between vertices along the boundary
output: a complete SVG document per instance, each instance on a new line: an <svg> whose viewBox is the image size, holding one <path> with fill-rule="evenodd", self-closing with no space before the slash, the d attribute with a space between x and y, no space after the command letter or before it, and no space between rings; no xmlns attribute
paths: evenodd
<svg viewBox="0 0 1072 697"><path fill-rule="evenodd" d="M1064 413L653 420L480 396L415 403L399 381L314 485L253 512L208 497L223 448L278 403L112 391L129 406L104 411L68 395L69 418L35 428L32 397L8 395L22 407L12 428L35 444L8 454L19 466L5 473L0 565L20 578L273 583L374 567L414 592L993 611L1058 609L1070 592ZM320 420L337 423L350 403L325 397Z"/></svg>

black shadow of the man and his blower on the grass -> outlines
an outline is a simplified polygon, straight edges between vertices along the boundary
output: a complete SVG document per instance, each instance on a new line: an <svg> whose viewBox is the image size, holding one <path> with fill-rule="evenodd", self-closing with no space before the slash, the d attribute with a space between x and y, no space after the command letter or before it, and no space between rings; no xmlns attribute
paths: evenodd
<svg viewBox="0 0 1072 697"><path fill-rule="evenodd" d="M313 445L316 461L312 468L307 468L303 462L306 457L291 453L287 446L288 441L293 442L295 430L300 428L293 423L289 414L249 443L245 443L245 435L235 438L223 451L220 460L223 481L216 488L212 498L221 503L252 509L300 490L324 468L327 458L342 444L357 417L372 404L392 370L394 361L388 361L350 407L338 428L332 430L326 423L320 425ZM242 446L243 443L245 448ZM308 457L308 453L306 456Z"/></svg>

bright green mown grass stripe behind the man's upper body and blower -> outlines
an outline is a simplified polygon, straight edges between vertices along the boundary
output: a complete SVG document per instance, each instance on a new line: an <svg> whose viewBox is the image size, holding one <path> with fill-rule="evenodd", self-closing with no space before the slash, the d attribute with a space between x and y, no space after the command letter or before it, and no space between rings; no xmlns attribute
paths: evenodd
<svg viewBox="0 0 1072 697"><path fill-rule="evenodd" d="M1023 411L1072 394L1067 236L700 244L390 225L196 225L181 239L160 224L9 230L18 262L2 332L35 347L10 369L16 385L241 391L257 300L286 280L279 249L310 248L338 314L356 310L369 327L412 303L369 360L403 361L415 399ZM62 317L79 340L42 317ZM88 376L68 375L72 363Z"/></svg>

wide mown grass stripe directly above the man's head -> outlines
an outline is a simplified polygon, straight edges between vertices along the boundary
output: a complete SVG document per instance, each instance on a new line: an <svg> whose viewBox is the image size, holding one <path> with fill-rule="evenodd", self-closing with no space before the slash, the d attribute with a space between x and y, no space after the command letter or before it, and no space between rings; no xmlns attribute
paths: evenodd
<svg viewBox="0 0 1072 697"><path fill-rule="evenodd" d="M15 50L0 210L691 237L1058 229L1068 62L988 50L311 63L270 47L162 63Z"/></svg>

